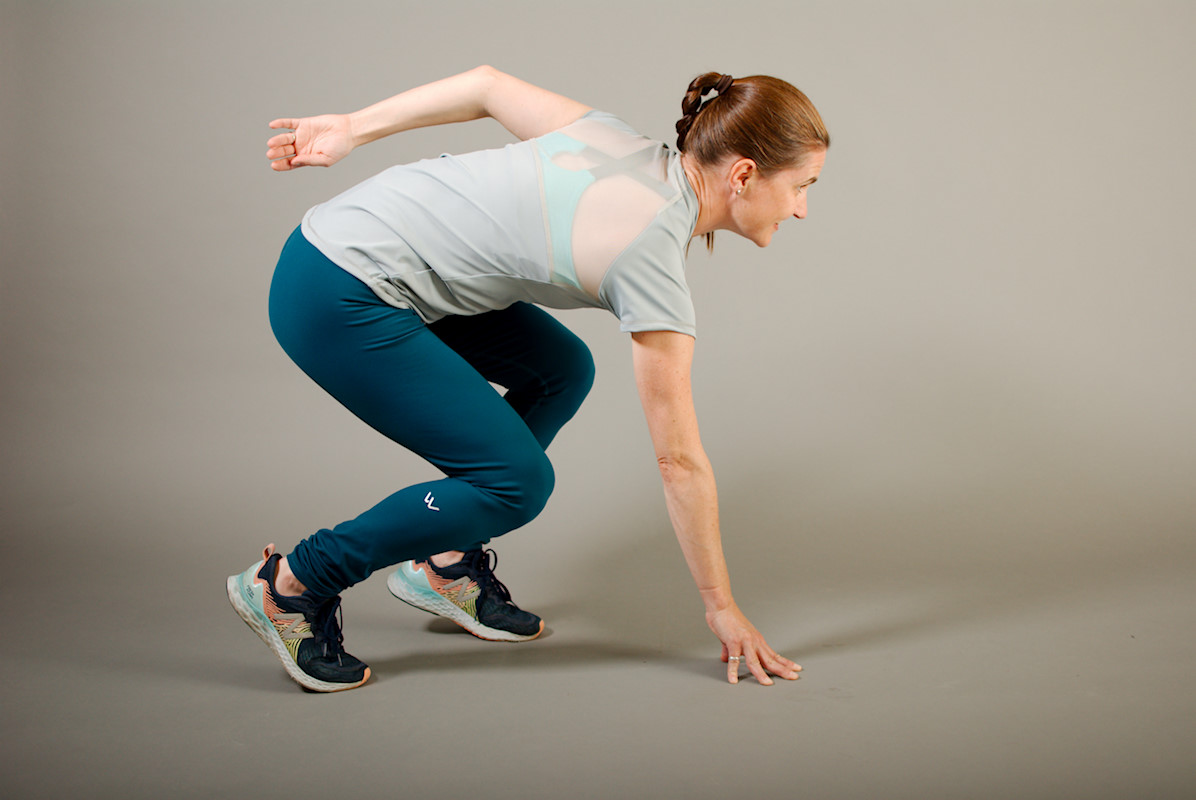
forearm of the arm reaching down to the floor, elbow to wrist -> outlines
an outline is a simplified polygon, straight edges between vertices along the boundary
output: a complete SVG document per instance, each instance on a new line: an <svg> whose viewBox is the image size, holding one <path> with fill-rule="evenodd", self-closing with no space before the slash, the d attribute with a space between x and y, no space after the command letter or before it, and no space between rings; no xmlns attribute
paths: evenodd
<svg viewBox="0 0 1196 800"><path fill-rule="evenodd" d="M719 497L714 470L704 456L660 459L665 503L685 563L708 613L734 604L719 532Z"/></svg>

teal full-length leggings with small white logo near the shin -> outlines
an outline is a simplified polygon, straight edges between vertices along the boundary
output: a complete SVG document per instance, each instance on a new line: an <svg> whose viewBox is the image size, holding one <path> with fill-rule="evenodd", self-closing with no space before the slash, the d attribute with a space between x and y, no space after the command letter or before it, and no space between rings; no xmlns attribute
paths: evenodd
<svg viewBox="0 0 1196 800"><path fill-rule="evenodd" d="M518 303L426 324L297 230L270 285L270 325L329 395L445 475L300 542L288 562L313 594L334 597L408 558L471 550L544 508L554 483L544 450L594 377L585 343L551 316Z"/></svg>

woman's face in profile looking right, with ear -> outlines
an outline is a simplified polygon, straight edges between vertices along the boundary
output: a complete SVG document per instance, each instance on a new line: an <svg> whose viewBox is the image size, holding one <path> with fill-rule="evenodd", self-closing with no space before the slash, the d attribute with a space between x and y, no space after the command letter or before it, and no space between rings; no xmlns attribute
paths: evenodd
<svg viewBox="0 0 1196 800"><path fill-rule="evenodd" d="M732 167L731 199L732 230L767 248L781 222L805 219L806 193L826 161L826 151L811 153L798 166L764 177L755 164L744 159Z"/></svg>

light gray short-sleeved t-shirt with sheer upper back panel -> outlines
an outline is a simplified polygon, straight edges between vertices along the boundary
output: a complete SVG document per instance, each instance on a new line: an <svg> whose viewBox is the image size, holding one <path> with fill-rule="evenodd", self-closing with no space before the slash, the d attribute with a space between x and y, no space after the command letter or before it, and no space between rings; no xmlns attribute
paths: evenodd
<svg viewBox="0 0 1196 800"><path fill-rule="evenodd" d="M537 139L391 167L316 206L304 236L426 322L524 300L695 334L681 158L609 114Z"/></svg>

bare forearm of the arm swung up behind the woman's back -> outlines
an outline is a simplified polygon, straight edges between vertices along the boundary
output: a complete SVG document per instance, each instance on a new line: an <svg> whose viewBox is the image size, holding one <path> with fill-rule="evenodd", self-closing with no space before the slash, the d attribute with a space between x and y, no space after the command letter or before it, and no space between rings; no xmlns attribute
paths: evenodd
<svg viewBox="0 0 1196 800"><path fill-rule="evenodd" d="M354 145L365 145L414 128L489 116L487 96L498 75L489 67L477 67L354 111L349 115Z"/></svg>

